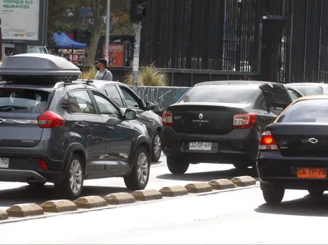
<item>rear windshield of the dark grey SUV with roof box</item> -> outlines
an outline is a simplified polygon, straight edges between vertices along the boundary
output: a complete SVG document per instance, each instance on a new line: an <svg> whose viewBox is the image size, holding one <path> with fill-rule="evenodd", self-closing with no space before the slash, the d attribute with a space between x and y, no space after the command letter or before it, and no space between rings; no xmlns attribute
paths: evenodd
<svg viewBox="0 0 328 245"><path fill-rule="evenodd" d="M0 112L43 113L49 93L40 90L0 88Z"/></svg>

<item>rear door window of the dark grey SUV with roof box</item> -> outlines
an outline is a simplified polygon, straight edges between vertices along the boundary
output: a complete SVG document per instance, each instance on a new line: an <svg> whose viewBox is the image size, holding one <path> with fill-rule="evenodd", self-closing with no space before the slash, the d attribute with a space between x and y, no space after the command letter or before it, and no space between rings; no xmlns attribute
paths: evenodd
<svg viewBox="0 0 328 245"><path fill-rule="evenodd" d="M77 90L69 93L71 113L96 114L94 104L87 90Z"/></svg>

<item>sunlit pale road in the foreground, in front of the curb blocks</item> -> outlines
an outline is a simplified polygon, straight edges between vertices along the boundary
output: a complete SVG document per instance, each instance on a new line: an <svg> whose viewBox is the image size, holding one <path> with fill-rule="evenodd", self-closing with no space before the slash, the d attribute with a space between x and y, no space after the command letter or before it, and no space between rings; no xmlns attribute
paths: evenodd
<svg viewBox="0 0 328 245"><path fill-rule="evenodd" d="M256 187L3 223L0 244L327 244L328 196L263 203Z"/></svg>

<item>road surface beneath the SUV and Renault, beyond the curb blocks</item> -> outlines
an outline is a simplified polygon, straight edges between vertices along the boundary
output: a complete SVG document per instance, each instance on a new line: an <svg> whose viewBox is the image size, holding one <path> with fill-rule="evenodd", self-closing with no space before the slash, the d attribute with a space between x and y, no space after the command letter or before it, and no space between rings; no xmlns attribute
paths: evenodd
<svg viewBox="0 0 328 245"><path fill-rule="evenodd" d="M162 156L158 163L151 166L151 177L147 189L161 189L175 185L184 186L193 182L209 182L221 178L231 179L241 175L256 177L256 171L248 168L247 171L237 171L232 165L197 164L191 165L185 175L174 176L166 166L166 157ZM106 196L109 193L131 192L126 189L122 178L107 178L87 180L84 182L82 196ZM24 183L0 182L0 209L6 210L11 205L19 203L42 204L47 200L62 199L54 193L52 184L43 189L33 189Z"/></svg>

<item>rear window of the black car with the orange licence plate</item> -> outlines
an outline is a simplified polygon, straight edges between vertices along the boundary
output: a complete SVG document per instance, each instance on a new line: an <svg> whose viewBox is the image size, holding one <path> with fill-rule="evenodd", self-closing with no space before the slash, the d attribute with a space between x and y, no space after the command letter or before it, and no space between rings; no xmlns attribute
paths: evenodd
<svg viewBox="0 0 328 245"><path fill-rule="evenodd" d="M277 122L328 122L328 100L301 100L283 112Z"/></svg>

